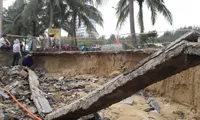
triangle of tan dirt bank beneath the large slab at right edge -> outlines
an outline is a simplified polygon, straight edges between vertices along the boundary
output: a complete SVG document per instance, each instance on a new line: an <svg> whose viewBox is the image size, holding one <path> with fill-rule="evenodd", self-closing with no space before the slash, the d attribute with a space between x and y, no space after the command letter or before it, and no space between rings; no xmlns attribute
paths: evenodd
<svg viewBox="0 0 200 120"><path fill-rule="evenodd" d="M200 66L158 82L148 89L181 104L189 105L200 112Z"/></svg>

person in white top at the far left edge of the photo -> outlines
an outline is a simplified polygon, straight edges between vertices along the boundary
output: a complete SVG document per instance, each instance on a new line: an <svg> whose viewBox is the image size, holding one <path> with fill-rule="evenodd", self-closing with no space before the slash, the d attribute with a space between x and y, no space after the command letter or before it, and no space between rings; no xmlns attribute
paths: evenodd
<svg viewBox="0 0 200 120"><path fill-rule="evenodd" d="M0 49L1 51L8 51L10 49L10 42L7 40L7 36L4 34L0 39Z"/></svg>

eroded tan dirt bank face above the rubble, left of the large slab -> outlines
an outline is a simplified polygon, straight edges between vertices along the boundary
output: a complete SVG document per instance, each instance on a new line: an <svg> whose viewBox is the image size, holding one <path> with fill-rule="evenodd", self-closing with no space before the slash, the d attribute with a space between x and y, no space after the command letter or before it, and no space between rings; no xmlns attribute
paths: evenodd
<svg viewBox="0 0 200 120"><path fill-rule="evenodd" d="M34 53L36 67L62 76L113 77L132 69L154 51Z"/></svg>

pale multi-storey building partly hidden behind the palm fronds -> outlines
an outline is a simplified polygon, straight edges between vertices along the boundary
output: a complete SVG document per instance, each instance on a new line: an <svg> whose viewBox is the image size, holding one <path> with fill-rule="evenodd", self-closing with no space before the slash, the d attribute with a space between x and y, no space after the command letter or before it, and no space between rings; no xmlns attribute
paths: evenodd
<svg viewBox="0 0 200 120"><path fill-rule="evenodd" d="M90 20L93 26L96 28L96 22L94 20ZM77 22L78 23L78 22ZM87 31L87 27L81 23L80 26L76 25L76 35L78 37L90 37L90 36L97 36L98 34L95 31Z"/></svg>

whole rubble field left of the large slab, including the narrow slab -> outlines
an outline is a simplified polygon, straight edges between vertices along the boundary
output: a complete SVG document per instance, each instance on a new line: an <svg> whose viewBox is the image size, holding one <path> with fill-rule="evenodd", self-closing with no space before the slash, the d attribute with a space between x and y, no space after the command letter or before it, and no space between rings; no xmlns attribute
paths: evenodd
<svg viewBox="0 0 200 120"><path fill-rule="evenodd" d="M0 68L0 119L33 119L5 89L31 113L44 119L53 110L74 102L106 82L105 79L52 77L41 71L30 71L21 66ZM80 120L101 120L98 116L96 113Z"/></svg>

